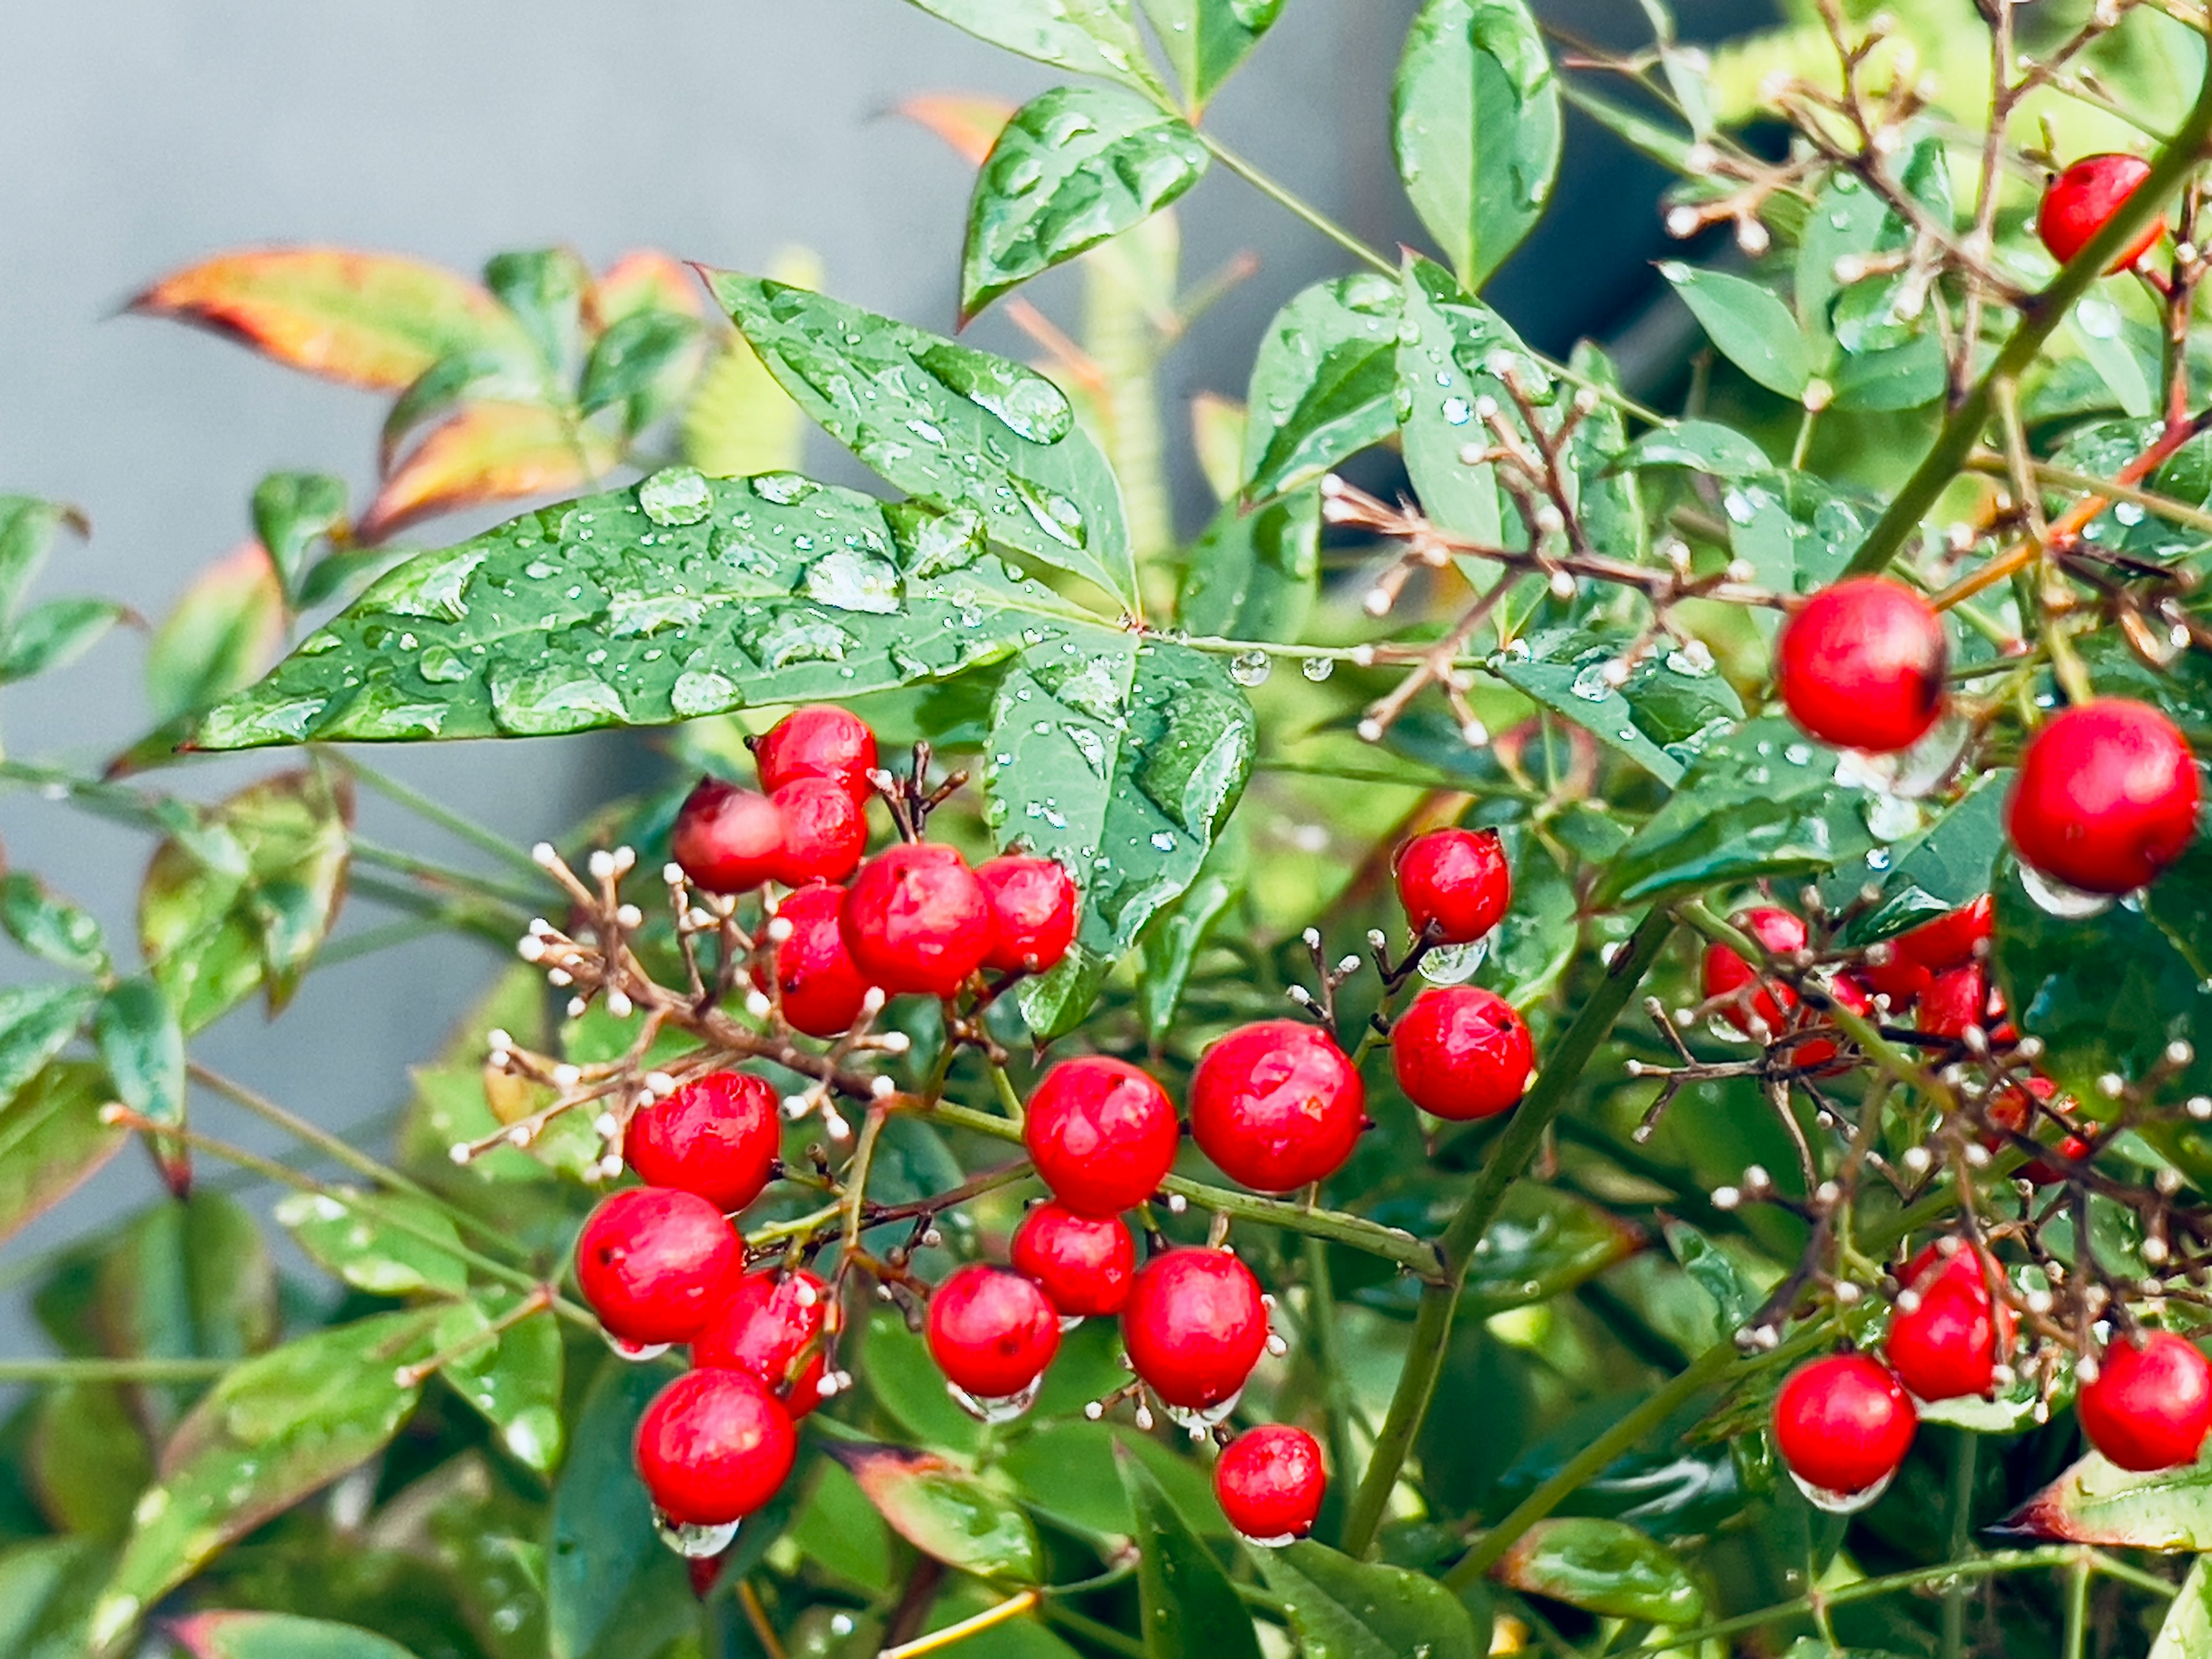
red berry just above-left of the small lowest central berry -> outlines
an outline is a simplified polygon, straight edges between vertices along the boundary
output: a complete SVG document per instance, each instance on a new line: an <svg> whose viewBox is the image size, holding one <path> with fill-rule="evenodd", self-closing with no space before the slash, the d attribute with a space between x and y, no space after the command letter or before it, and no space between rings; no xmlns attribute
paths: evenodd
<svg viewBox="0 0 2212 1659"><path fill-rule="evenodd" d="M1234 1400L1267 1352L1259 1281L1228 1250L1168 1250L1137 1270L1121 1310L1121 1345L1137 1376L1172 1407Z"/></svg>

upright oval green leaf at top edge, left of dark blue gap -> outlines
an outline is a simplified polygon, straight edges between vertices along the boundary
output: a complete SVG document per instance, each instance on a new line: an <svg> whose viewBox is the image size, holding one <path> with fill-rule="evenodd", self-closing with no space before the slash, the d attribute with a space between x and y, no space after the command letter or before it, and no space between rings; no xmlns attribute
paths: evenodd
<svg viewBox="0 0 2212 1659"><path fill-rule="evenodd" d="M1542 217L1559 84L1520 0L1427 0L1391 97L1398 177L1469 292Z"/></svg>

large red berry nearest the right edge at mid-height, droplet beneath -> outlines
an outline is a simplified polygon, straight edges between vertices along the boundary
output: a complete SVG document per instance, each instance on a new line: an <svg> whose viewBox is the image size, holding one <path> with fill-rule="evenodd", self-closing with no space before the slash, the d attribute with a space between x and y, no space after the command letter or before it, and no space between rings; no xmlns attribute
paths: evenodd
<svg viewBox="0 0 2212 1659"><path fill-rule="evenodd" d="M2006 832L2020 863L2088 894L2130 894L2197 836L2197 757L2148 703L2068 708L2020 757Z"/></svg>

